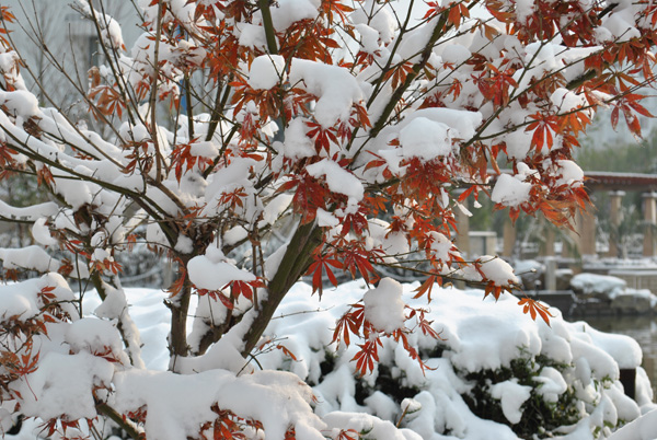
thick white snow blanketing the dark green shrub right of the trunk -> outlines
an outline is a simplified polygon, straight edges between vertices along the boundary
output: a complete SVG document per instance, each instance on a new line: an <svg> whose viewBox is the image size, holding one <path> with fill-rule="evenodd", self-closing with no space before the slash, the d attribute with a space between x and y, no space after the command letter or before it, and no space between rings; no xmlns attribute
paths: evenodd
<svg viewBox="0 0 657 440"><path fill-rule="evenodd" d="M406 301L415 287L404 286ZM260 357L260 362L265 368L289 369L316 384L318 414L361 410L397 419L403 407L377 390L380 369L371 378L364 378L373 392L365 402L358 402L354 366L348 362L356 348L343 346L336 351L335 347L330 347L324 351L331 333L322 329L332 328L332 323L345 311L346 304L362 297L366 291L364 282L354 281L334 292L325 292L322 302L314 297L309 300L310 290L306 285L297 285L279 309L280 317L274 320L268 329L269 336L281 339L281 344L295 352L299 361L289 361L283 354L272 351ZM504 296L497 303L492 299L482 301L482 297L480 290L442 289L430 304L428 319L434 320L434 328L441 332L445 339L439 343L441 356L431 358L431 350L436 351L430 339L417 334L412 339L429 358L425 360L434 370L423 373L418 364L394 343L388 341L381 354L381 363L391 368L399 384L417 393L413 397L423 408L406 416L405 420L406 427L420 433L423 439L517 439L508 426L475 416L463 395L473 389L472 381L465 379L468 374L499 372L511 368L519 359L526 359L534 369L529 381L533 382L532 398L555 405L560 397L565 397L567 390L575 392L579 398L574 406L579 412L580 421L564 427L560 432L566 435L563 438L593 439L591 431L596 426L600 426L601 432L609 433L604 424L615 426L620 419L636 418L654 407L649 383L641 380L645 372L639 367L642 354L634 339L598 332L584 322L567 323L556 310L551 310L555 317L551 320L552 327L549 327L523 315L515 297ZM423 303L416 300L411 305L422 306ZM322 362L327 356L335 357L335 366L332 372L323 375ZM540 357L549 358L552 366L541 364L538 361ZM619 363L623 368L639 370L637 403L624 397L619 382ZM560 367L553 368L555 366ZM522 384L511 379L489 383L486 390L491 397L499 401L510 425L521 419L522 405L530 397L532 386L526 382L527 378Z"/></svg>

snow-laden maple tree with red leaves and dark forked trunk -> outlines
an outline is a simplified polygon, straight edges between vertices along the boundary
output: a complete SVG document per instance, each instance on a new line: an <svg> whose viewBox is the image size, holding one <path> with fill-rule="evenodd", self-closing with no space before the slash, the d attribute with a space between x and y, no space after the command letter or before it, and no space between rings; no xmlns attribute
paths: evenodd
<svg viewBox="0 0 657 440"><path fill-rule="evenodd" d="M425 277L428 301L456 279L514 290L508 264L459 252L454 211L489 197L567 227L588 202L577 136L600 107L636 136L648 115L652 1L137 3L131 48L102 1L76 3L102 51L89 84L69 77L88 119L39 103L48 84L26 88L0 7L0 177L49 195L0 201L0 219L34 239L0 248L3 278L18 280L0 287L4 430L22 414L45 436L93 433L100 417L135 439L353 438L313 415L296 375L251 373L292 285L308 275L328 296L323 281L344 273L377 286L327 332L359 347L362 374L384 338L424 368L408 335L440 326L381 269ZM138 242L177 268L169 371L145 368L120 283L117 255ZM93 317L85 294L102 300Z"/></svg>

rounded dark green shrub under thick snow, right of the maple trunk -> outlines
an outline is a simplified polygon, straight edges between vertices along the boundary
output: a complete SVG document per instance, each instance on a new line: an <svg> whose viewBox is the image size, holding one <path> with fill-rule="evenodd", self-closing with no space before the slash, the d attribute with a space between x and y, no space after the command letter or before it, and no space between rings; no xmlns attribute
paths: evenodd
<svg viewBox="0 0 657 440"><path fill-rule="evenodd" d="M416 286L405 286L405 296ZM607 437L656 408L634 339L565 322L558 313L549 327L518 315L515 298L503 297L492 309L489 301L473 301L481 294L475 290L434 292L427 320L442 339L416 335L413 341L424 372L388 340L373 374L357 378L349 362L356 350L320 335L344 313L341 301L355 301L367 288L346 283L318 302L308 301L310 289L296 286L266 332L296 359L269 351L258 362L313 385L320 415L358 410L401 419L423 439L581 440ZM636 401L624 394L621 368L637 371Z"/></svg>

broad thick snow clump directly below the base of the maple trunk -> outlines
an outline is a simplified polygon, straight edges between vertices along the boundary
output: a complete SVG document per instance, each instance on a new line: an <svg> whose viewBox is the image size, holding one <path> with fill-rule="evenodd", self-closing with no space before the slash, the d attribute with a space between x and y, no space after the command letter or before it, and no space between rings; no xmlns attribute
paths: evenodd
<svg viewBox="0 0 657 440"><path fill-rule="evenodd" d="M197 374L166 371L126 371L115 374L118 410L148 407L146 431L154 440L178 440L198 432L217 415L217 403L242 417L261 420L267 438L283 440L289 426L299 439L323 440L324 424L312 414L312 393L296 375L256 371L235 377L224 370ZM194 404L191 404L191 403Z"/></svg>

